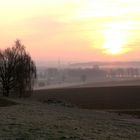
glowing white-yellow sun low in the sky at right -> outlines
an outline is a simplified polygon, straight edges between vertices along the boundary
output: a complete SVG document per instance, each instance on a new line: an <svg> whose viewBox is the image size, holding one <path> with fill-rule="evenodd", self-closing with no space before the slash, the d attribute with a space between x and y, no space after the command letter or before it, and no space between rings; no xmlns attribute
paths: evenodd
<svg viewBox="0 0 140 140"><path fill-rule="evenodd" d="M121 55L129 51L126 47L127 44L127 32L122 30L123 23L112 23L109 27L103 31L104 42L102 50L106 54ZM126 24L127 25L127 24Z"/></svg>

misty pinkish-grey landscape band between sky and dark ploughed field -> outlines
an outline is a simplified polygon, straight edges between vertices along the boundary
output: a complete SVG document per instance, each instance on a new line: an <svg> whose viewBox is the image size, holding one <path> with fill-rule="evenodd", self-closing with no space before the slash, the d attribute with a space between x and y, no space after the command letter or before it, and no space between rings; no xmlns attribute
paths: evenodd
<svg viewBox="0 0 140 140"><path fill-rule="evenodd" d="M41 66L42 65L42 66ZM139 62L42 63L35 89L140 85Z"/></svg>

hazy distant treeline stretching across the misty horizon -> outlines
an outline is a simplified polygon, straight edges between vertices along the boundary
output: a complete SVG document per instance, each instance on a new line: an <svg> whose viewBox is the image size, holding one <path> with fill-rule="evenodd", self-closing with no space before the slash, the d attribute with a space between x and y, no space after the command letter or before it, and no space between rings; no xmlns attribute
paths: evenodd
<svg viewBox="0 0 140 140"><path fill-rule="evenodd" d="M139 68L115 68L115 69L99 69L99 68L47 68L43 71L38 71L38 77L56 77L58 75L67 75L79 77L81 75L92 77L137 77L140 75Z"/></svg>

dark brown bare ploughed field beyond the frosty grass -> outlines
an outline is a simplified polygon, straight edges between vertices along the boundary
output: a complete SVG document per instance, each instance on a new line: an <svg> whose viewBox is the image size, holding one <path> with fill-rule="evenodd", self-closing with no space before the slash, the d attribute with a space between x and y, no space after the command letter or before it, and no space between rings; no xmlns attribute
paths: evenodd
<svg viewBox="0 0 140 140"><path fill-rule="evenodd" d="M87 109L140 109L140 86L37 90L33 98L56 98Z"/></svg>

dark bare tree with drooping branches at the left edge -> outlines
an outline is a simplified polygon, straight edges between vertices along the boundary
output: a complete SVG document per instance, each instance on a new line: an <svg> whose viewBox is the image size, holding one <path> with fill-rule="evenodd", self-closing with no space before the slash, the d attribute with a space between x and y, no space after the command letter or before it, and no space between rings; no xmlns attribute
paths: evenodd
<svg viewBox="0 0 140 140"><path fill-rule="evenodd" d="M36 66L19 40L12 48L0 51L0 83L4 96L17 91L19 96L31 93L36 79Z"/></svg>

